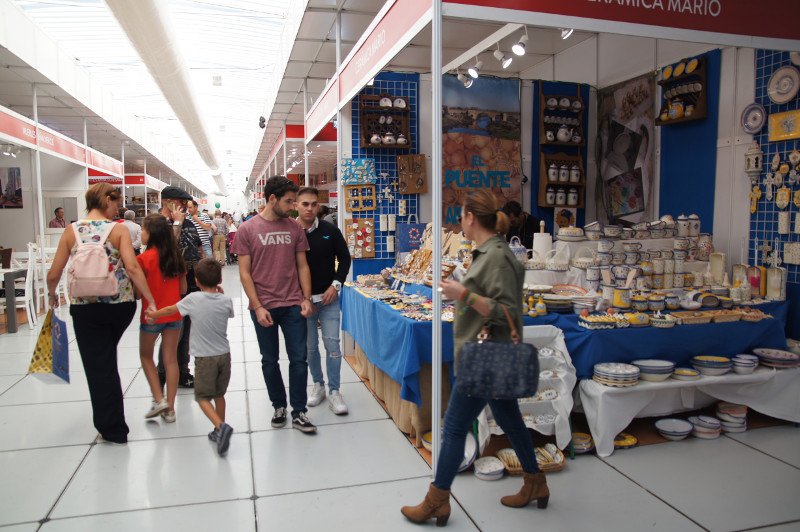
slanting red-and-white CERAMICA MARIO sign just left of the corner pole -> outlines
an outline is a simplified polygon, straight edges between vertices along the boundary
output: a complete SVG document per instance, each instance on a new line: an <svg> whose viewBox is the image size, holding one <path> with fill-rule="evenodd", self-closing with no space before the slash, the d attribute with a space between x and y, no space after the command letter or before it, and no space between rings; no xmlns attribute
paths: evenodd
<svg viewBox="0 0 800 532"><path fill-rule="evenodd" d="M430 21L432 0L397 0L373 23L351 52L339 76L339 101L349 102L361 87L402 50ZM316 131L314 131L316 133Z"/></svg>

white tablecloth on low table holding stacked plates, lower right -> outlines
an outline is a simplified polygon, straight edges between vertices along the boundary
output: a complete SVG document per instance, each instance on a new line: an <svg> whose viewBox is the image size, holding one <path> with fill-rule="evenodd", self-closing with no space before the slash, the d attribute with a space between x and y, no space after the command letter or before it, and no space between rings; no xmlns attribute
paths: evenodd
<svg viewBox="0 0 800 532"><path fill-rule="evenodd" d="M580 382L579 390L599 456L614 452L614 438L636 417L695 410L716 400L747 405L762 414L800 423L800 368L776 371L759 367L751 375L640 381L630 388L611 388L587 379Z"/></svg>

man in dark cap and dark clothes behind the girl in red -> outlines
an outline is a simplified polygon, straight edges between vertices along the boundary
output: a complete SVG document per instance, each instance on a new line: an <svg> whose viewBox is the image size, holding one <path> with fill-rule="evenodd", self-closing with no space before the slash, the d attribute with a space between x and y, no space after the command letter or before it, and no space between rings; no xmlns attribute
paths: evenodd
<svg viewBox="0 0 800 532"><path fill-rule="evenodd" d="M194 280L194 266L203 258L203 244L197 228L191 219L186 216L189 202L192 196L178 187L169 186L161 191L161 210L163 216L172 222L175 230L175 241L178 243L178 252L186 263L186 287L187 293L200 290ZM192 320L186 316L183 318L183 329L181 338L178 341L178 369L180 377L178 385L181 388L194 387L194 377L189 373L189 333L192 328ZM166 382L164 363L161 358L161 350L158 352L158 378L163 386Z"/></svg>

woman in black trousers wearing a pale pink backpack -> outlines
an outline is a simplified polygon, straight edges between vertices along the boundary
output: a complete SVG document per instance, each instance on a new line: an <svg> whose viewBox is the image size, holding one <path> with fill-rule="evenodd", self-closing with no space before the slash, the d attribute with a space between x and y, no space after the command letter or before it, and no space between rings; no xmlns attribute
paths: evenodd
<svg viewBox="0 0 800 532"><path fill-rule="evenodd" d="M136 262L130 232L111 221L119 212L121 197L120 191L108 183L89 187L88 214L61 235L47 273L50 306L57 307L56 286L72 258L67 272L69 313L89 385L94 426L100 441L119 444L128 441L128 425L117 370L117 344L136 313L133 285L147 305L158 309Z"/></svg>

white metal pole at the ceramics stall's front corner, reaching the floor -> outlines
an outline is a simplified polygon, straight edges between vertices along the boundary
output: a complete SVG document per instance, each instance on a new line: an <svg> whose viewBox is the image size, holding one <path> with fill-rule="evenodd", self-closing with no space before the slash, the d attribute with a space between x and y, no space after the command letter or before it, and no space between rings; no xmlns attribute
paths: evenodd
<svg viewBox="0 0 800 532"><path fill-rule="evenodd" d="M433 222L433 282L438 284L442 278L442 2L433 0L433 38L431 40L431 90L432 115L431 141L431 203ZM431 382L431 432L433 435L432 466L436 476L439 465L439 449L442 419L442 294L433 290L433 330L431 341L431 364L433 380Z"/></svg>

